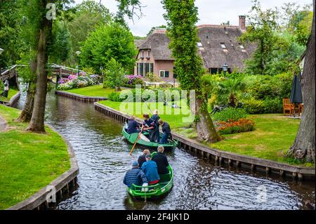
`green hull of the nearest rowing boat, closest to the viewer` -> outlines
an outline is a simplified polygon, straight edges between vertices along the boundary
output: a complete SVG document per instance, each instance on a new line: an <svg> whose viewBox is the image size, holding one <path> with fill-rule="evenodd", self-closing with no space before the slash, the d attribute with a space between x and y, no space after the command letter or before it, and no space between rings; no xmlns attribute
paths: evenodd
<svg viewBox="0 0 316 224"><path fill-rule="evenodd" d="M157 152L152 152L152 157ZM168 166L169 173L159 175L159 183L147 187L132 185L127 187L127 192L136 199L157 199L168 193L173 186L173 169Z"/></svg>

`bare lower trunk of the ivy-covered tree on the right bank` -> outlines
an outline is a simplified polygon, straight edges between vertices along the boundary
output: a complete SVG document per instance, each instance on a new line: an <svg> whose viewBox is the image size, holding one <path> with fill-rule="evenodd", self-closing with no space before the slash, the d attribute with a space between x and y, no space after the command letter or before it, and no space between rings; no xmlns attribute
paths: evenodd
<svg viewBox="0 0 316 224"><path fill-rule="evenodd" d="M197 95L196 111L199 119L197 119L197 138L202 141L216 143L220 140L220 135L216 131L213 121L207 110L204 100Z"/></svg>

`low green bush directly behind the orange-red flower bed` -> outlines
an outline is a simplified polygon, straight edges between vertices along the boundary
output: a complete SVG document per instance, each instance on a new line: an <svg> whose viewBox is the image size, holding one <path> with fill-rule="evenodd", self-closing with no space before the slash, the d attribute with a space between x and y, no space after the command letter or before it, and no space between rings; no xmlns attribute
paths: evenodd
<svg viewBox="0 0 316 224"><path fill-rule="evenodd" d="M247 113L244 109L228 107L213 115L213 119L216 121L237 121L242 118L246 118Z"/></svg>

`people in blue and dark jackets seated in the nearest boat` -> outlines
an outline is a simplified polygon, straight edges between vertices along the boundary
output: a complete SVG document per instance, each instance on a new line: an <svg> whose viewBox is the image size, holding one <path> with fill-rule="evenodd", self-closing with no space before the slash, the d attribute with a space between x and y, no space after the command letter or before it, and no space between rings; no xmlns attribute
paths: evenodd
<svg viewBox="0 0 316 224"><path fill-rule="evenodd" d="M157 154L150 154L150 150L144 150L137 162L132 163L132 169L126 172L123 183L131 185L147 186L159 183L161 174L169 173L169 162L164 154L164 147L157 149Z"/></svg>

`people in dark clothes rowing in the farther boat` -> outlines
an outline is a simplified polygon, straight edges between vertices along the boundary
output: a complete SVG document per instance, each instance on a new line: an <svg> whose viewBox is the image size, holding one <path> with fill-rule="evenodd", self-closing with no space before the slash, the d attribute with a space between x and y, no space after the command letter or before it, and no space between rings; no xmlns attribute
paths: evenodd
<svg viewBox="0 0 316 224"><path fill-rule="evenodd" d="M143 114L143 125L140 129L140 125L137 121L135 121L135 117L131 117L131 120L128 123L127 133L140 133L141 130L147 131L149 133L149 140L152 143L160 143L166 144L168 142L168 138L172 138L170 125L160 119L158 115L158 110L154 110L152 113L152 117L148 114ZM162 138L160 139L159 135L159 126L162 126Z"/></svg>

